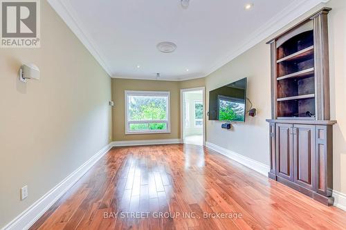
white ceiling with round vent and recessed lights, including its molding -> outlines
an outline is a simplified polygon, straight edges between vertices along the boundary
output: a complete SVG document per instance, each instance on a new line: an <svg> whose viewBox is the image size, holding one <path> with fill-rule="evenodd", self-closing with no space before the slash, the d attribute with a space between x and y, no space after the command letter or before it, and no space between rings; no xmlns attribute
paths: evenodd
<svg viewBox="0 0 346 230"><path fill-rule="evenodd" d="M190 0L187 10L180 0L48 1L111 77L181 80L205 77L327 0ZM161 41L178 47L159 52Z"/></svg>

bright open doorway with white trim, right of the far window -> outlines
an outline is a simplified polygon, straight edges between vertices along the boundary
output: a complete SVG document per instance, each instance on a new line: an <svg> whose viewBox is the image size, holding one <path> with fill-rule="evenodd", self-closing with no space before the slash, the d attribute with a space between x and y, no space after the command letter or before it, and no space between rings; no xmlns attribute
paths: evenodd
<svg viewBox="0 0 346 230"><path fill-rule="evenodd" d="M205 145L204 87L181 89L181 143Z"/></svg>

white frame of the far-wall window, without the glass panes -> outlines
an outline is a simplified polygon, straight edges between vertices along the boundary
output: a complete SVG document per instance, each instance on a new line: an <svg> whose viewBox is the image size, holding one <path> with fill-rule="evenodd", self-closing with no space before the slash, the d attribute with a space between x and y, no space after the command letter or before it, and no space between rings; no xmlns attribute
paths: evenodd
<svg viewBox="0 0 346 230"><path fill-rule="evenodd" d="M129 96L145 96L145 97L167 97L167 111L165 120L140 120L129 121ZM149 123L165 123L167 129L165 130L143 130L143 131L130 131L130 124L149 124ZM138 90L125 90L125 134L145 134L145 133L170 133L170 91L138 91Z"/></svg>

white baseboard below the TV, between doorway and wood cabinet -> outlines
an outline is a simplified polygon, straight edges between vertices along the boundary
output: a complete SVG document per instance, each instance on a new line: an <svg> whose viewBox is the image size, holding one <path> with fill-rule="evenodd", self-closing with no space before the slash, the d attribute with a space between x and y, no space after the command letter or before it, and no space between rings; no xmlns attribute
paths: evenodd
<svg viewBox="0 0 346 230"><path fill-rule="evenodd" d="M214 151L217 151L217 153L225 155L226 157L239 162L240 164L244 164L248 168L257 171L258 173L268 176L268 171L270 171L270 168L266 164L262 164L261 162L257 162L255 160L252 160L251 158L244 157L244 155L240 155L239 153L235 153L210 142L206 142L206 146Z"/></svg>

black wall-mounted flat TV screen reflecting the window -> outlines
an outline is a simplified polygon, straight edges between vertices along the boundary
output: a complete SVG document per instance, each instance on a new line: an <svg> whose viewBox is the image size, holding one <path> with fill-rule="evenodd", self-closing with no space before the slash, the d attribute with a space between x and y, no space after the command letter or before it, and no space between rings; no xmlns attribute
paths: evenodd
<svg viewBox="0 0 346 230"><path fill-rule="evenodd" d="M245 122L246 78L209 92L209 119Z"/></svg>

